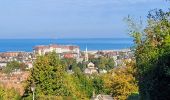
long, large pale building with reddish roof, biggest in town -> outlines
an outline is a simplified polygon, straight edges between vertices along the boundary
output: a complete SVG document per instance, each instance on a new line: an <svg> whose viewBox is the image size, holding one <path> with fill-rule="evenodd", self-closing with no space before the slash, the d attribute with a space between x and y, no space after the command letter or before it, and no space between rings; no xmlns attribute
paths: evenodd
<svg viewBox="0 0 170 100"><path fill-rule="evenodd" d="M34 53L38 55L44 55L49 52L56 52L61 54L60 56L67 57L67 58L79 58L80 48L78 46L73 45L40 45L34 47Z"/></svg>

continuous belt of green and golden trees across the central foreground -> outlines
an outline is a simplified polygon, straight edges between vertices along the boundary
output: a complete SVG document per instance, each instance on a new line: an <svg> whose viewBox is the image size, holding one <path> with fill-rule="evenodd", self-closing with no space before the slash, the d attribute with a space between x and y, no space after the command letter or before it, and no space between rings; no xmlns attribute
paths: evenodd
<svg viewBox="0 0 170 100"><path fill-rule="evenodd" d="M63 61L59 60L54 52L38 57L34 68L31 70L31 77L28 80L25 92L26 96L23 98L28 100L32 98L32 91L30 90L32 83L36 86L35 96L37 100L65 100L68 98L89 100L94 93L114 94L115 97L126 98L131 93L138 91L131 66L113 70L108 74L94 74L92 76L85 75L78 66L74 68L73 74L67 73L66 69ZM115 73L115 78L110 76L111 73ZM120 78L122 77L121 74L124 77L131 77L126 81L126 78ZM119 87L117 91L115 91L116 86ZM125 88L128 90L127 93L115 94L118 91L124 91Z"/></svg>

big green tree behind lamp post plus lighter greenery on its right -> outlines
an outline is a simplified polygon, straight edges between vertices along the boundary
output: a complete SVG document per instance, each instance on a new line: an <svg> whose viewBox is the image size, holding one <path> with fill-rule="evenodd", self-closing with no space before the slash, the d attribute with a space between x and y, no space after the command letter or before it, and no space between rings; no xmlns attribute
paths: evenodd
<svg viewBox="0 0 170 100"><path fill-rule="evenodd" d="M74 74L66 73L63 66L74 65L74 60L60 60L56 53L40 56L31 70L24 99L30 99L31 84L36 84L35 97L37 100L88 100L92 96L93 86L91 78L85 76L79 67L74 68ZM75 65L76 66L76 65Z"/></svg>

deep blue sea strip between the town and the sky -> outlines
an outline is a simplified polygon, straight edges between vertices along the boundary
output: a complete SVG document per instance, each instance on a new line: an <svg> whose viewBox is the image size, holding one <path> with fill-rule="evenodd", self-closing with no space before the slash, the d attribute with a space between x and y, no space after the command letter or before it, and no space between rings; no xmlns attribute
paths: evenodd
<svg viewBox="0 0 170 100"><path fill-rule="evenodd" d="M0 39L0 52L32 52L37 45L77 45L81 50L120 50L133 47L132 38L83 38L83 39Z"/></svg>

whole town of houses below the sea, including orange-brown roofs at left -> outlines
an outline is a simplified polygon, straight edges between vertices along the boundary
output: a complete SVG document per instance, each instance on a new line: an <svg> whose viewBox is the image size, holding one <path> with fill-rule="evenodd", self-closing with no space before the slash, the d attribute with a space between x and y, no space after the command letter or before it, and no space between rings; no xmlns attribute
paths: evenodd
<svg viewBox="0 0 170 100"><path fill-rule="evenodd" d="M23 95L22 83L27 80L29 77L28 70L34 67L34 61L37 56L46 55L49 52L56 52L60 59L74 59L76 63L85 64L85 68L82 69L84 74L102 74L107 73L107 69L99 68L99 65L95 65L90 59L98 58L110 58L110 62L114 62L111 68L118 66L126 66L125 61L131 61L133 59L133 52L129 49L127 50L96 50L88 51L86 47L85 51L81 51L79 46L73 45L39 45L33 48L32 52L24 51L13 51L13 52L1 52L0 53L0 83L2 86L7 88L15 88L20 91L20 94ZM15 69L9 72L10 75L4 73L4 69L10 65L11 62L18 62L24 66L24 70ZM72 66L72 65L66 65ZM7 71L8 72L8 71ZM68 68L68 73L74 73L72 68Z"/></svg>

